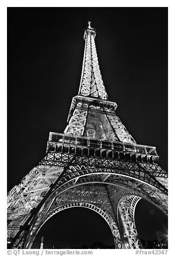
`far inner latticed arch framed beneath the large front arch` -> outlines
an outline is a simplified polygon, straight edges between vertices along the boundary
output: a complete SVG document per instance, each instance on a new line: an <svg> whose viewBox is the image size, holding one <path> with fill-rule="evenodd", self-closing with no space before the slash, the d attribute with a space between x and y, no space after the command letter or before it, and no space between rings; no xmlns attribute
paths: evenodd
<svg viewBox="0 0 175 256"><path fill-rule="evenodd" d="M53 201L52 206L49 208L47 214L39 217L38 221L32 227L32 234L30 233L30 236L26 241L25 247L31 247L33 239L39 231L40 227L50 217L52 217L54 214L61 210L68 209L69 207L86 207L98 212L98 214L100 214L106 220L111 228L114 237L115 247L119 241L121 242L119 230L114 221L110 202L106 197L103 184L101 184L100 187L87 185L78 186L70 188L59 194L59 196L57 196Z"/></svg>

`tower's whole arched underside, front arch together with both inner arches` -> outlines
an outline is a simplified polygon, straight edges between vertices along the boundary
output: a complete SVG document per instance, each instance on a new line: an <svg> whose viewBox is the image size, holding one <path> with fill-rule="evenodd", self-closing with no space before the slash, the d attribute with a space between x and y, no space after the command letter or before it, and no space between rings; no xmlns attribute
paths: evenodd
<svg viewBox="0 0 175 256"><path fill-rule="evenodd" d="M84 191L87 192L89 191L89 186L93 186L96 190L99 189L101 195L107 195L106 201L103 196L95 200L94 197L91 198L90 196L89 201L84 196L77 196L78 189L84 188ZM93 196L96 195L94 192L93 190ZM35 235L49 217L56 214L57 211L64 209L64 207L66 208L68 205L70 207L71 204L75 204L78 207L81 206L81 203L88 208L92 206L98 213L101 212L100 215L102 217L105 216L106 221L107 219L113 220L115 225L109 224L109 221L108 224L111 227L113 236L115 233L115 246L118 241L121 241L123 248L140 248L141 244L134 222L134 212L137 202L141 198L144 198L167 213L166 197L167 195L162 191L143 181L133 179L133 177L101 172L101 170L98 172L98 169L96 169L96 172L82 174L81 169L79 169L78 177L74 177L68 181L65 180L42 205L31 224L31 229L26 238L25 248L31 247ZM128 222L130 223L129 225L127 225Z"/></svg>

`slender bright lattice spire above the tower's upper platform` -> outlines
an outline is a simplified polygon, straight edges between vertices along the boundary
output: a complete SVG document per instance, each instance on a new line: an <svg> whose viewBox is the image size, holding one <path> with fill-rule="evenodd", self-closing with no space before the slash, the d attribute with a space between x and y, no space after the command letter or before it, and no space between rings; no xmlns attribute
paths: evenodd
<svg viewBox="0 0 175 256"><path fill-rule="evenodd" d="M91 27L91 22L88 24L88 29L84 33L85 48L78 95L106 100L107 93L101 77L94 41L96 31Z"/></svg>

